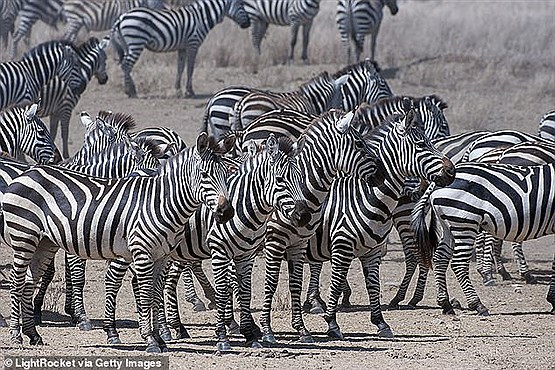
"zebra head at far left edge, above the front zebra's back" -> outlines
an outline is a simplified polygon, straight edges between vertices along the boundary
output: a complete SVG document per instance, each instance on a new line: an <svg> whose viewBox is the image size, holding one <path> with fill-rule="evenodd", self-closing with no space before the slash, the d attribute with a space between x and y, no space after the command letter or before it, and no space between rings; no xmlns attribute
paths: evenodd
<svg viewBox="0 0 555 370"><path fill-rule="evenodd" d="M37 109L38 105L33 104L24 112L25 123L18 134L21 151L40 164L58 163L62 160L62 155L46 125L36 115Z"/></svg>

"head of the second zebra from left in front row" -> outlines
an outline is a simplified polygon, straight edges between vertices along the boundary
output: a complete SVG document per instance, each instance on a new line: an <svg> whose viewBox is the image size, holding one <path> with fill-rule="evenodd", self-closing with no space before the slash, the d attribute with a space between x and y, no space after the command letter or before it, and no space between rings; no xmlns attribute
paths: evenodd
<svg viewBox="0 0 555 370"><path fill-rule="evenodd" d="M274 208L285 215L296 227L303 227L311 219L311 212L303 195L303 178L298 164L298 153L302 150L304 139L297 143L287 137L276 139L270 134L266 140L266 152L270 159L271 181L268 193L273 198Z"/></svg>

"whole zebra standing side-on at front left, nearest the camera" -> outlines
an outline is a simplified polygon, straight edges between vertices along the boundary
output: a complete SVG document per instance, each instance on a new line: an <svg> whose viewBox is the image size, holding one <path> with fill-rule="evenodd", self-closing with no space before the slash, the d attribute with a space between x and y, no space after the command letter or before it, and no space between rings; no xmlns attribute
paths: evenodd
<svg viewBox="0 0 555 370"><path fill-rule="evenodd" d="M55 252L64 248L81 258L124 258L135 263L141 335L147 352L164 350L157 311L167 256L179 242L175 239L179 230L201 203L216 214L217 222L233 216L225 184L228 168L221 157L232 147L233 138L217 145L202 133L194 148L166 161L153 176L102 179L41 166L14 179L2 203L3 236L14 250L13 340L22 341L21 317L22 332L30 343L42 343L31 298Z"/></svg>

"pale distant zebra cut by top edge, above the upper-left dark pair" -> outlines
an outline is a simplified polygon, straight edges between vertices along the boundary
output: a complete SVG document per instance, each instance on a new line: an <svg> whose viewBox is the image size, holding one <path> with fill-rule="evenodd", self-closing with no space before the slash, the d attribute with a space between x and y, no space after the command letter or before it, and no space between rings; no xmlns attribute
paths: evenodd
<svg viewBox="0 0 555 370"><path fill-rule="evenodd" d="M131 9L146 7L161 9L163 0L64 0L62 18L67 23L63 39L74 42L81 28L108 31L118 17Z"/></svg>

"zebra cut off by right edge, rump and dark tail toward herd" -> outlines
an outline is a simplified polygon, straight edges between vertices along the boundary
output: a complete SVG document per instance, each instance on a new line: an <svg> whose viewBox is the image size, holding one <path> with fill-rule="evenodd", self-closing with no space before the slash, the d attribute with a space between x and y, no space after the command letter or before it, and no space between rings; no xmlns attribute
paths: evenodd
<svg viewBox="0 0 555 370"><path fill-rule="evenodd" d="M413 213L422 260L433 257L437 302L444 314L454 314L445 274L452 258L455 272L469 309L489 315L468 276L472 245L479 232L501 240L522 242L555 233L555 163L517 166L491 163L462 163L455 181L441 189L430 184ZM431 230L424 224L427 205L432 213ZM442 238L437 244L437 232ZM436 245L437 244L437 245ZM547 295L555 313L555 260Z"/></svg>

